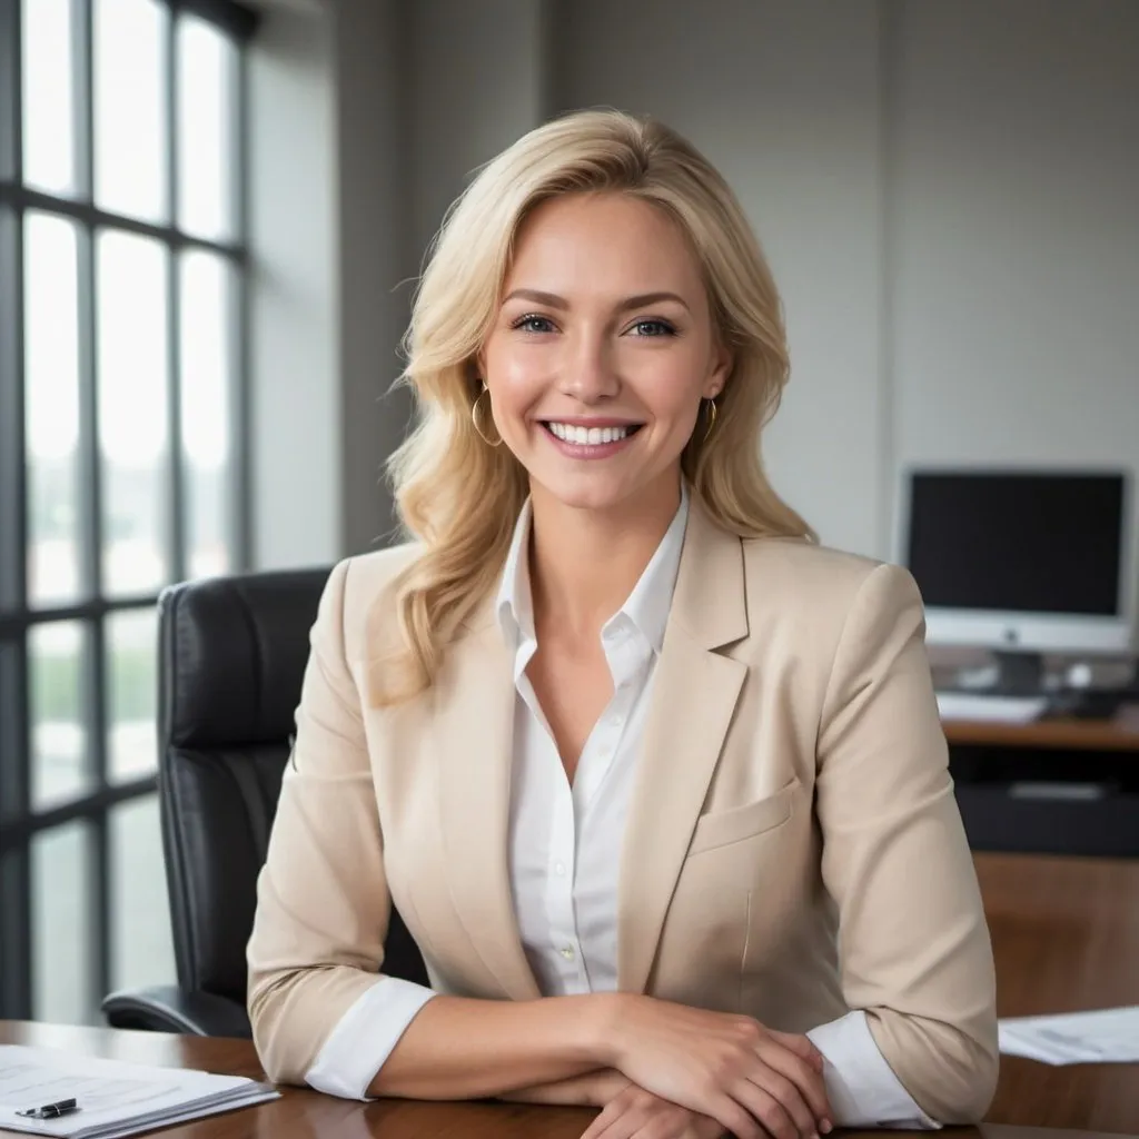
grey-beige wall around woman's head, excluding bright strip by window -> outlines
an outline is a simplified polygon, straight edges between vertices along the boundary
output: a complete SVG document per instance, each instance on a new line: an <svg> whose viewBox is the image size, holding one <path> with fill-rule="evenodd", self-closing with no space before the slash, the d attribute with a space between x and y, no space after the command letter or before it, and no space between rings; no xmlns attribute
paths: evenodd
<svg viewBox="0 0 1139 1139"><path fill-rule="evenodd" d="M335 80L358 259L336 276L343 548L380 528L370 473L407 408L369 401L443 211L499 148L585 105L669 120L735 186L793 351L769 466L825 541L894 556L906 464L1139 465L1132 0L334 7L355 13Z"/></svg>

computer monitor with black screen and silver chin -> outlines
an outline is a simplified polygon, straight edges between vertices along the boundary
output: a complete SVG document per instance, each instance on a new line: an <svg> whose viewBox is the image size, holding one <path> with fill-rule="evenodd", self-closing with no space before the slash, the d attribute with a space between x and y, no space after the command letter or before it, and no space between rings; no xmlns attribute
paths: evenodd
<svg viewBox="0 0 1139 1139"><path fill-rule="evenodd" d="M1010 691L1040 690L1042 653L1131 650L1126 474L913 470L906 492L931 645L994 650Z"/></svg>

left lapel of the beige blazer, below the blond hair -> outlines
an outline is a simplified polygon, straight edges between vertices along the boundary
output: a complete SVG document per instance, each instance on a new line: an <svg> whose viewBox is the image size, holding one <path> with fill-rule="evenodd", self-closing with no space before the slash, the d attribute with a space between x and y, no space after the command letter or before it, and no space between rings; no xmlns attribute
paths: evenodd
<svg viewBox="0 0 1139 1139"><path fill-rule="evenodd" d="M489 605L480 616L445 654L424 729L436 755L452 901L503 995L532 1000L541 992L522 948L508 867L513 662Z"/></svg>

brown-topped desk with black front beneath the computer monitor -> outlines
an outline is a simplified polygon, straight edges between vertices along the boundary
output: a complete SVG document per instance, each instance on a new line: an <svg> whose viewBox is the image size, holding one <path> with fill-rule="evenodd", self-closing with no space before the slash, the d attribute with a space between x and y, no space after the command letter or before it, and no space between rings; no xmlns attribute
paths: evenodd
<svg viewBox="0 0 1139 1139"><path fill-rule="evenodd" d="M974 850L1139 858L1139 718L1131 708L1114 720L944 727Z"/></svg>

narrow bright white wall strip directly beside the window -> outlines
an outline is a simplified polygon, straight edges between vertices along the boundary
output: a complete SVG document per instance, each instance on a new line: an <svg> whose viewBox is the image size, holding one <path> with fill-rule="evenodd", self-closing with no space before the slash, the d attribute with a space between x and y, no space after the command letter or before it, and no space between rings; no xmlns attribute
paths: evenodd
<svg viewBox="0 0 1139 1139"><path fill-rule="evenodd" d="M249 52L253 562L338 556L343 450L336 93L319 8L271 8Z"/></svg>

